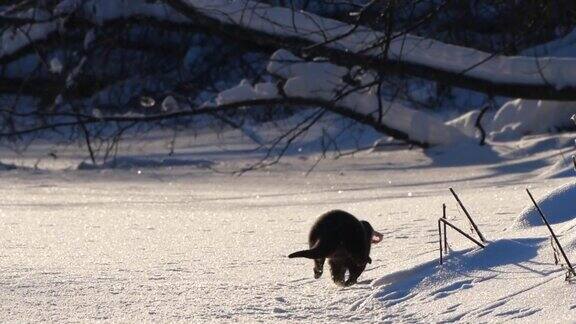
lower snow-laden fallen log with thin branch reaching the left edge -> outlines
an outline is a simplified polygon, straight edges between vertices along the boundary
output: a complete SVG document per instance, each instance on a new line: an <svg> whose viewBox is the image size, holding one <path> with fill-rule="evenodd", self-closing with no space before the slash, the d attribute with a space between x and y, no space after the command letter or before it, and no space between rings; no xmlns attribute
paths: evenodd
<svg viewBox="0 0 576 324"><path fill-rule="evenodd" d="M335 114L373 127L375 130L406 143L427 147L450 145L470 140L460 130L445 124L434 115L409 108L400 102L388 102L380 97L377 83L370 72L348 69L322 60L306 62L286 50L275 52L267 67L280 79L278 83L261 82L255 85L243 80L236 87L218 94L199 107L180 107L161 114L150 115L85 115L53 113L54 123L19 129L1 136L15 136L46 129L98 123L149 123L195 115L221 113L244 107L291 106L320 107ZM172 101L175 101L173 98Z"/></svg>

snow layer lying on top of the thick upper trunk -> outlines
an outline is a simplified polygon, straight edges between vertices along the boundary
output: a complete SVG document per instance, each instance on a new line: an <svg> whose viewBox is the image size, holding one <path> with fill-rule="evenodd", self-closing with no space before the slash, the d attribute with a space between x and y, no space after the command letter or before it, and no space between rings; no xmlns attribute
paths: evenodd
<svg viewBox="0 0 576 324"><path fill-rule="evenodd" d="M250 0L185 0L192 8L226 24L284 37L299 37L345 52L382 55L381 32L348 25L307 12ZM556 89L576 85L576 61L562 57L502 56L415 35L394 37L389 59L438 68L496 83L540 85Z"/></svg>

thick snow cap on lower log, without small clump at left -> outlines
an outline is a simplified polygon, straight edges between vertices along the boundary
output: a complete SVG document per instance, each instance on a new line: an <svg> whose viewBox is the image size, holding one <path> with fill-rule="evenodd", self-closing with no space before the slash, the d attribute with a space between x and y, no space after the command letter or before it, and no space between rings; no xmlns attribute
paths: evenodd
<svg viewBox="0 0 576 324"><path fill-rule="evenodd" d="M287 96L334 102L375 119L382 108L383 125L402 131L422 143L450 145L467 141L467 137L457 128L444 124L432 114L411 109L399 102L379 102L376 85L372 84L374 77L370 72L347 69L321 59L306 62L285 50L272 55L267 69L272 75L286 80L284 93ZM354 84L351 85L351 82Z"/></svg>

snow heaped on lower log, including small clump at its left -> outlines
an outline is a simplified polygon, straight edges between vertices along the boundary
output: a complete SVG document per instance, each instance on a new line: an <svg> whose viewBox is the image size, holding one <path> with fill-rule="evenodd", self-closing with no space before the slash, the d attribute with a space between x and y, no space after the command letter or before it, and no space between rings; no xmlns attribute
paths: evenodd
<svg viewBox="0 0 576 324"><path fill-rule="evenodd" d="M274 100L289 105L320 106L419 146L468 140L457 128L427 112L399 102L379 100L371 74L357 68L348 69L321 60L306 62L286 50L279 50L272 55L268 72L283 82L252 86L243 81L221 92L214 107L247 100Z"/></svg>

